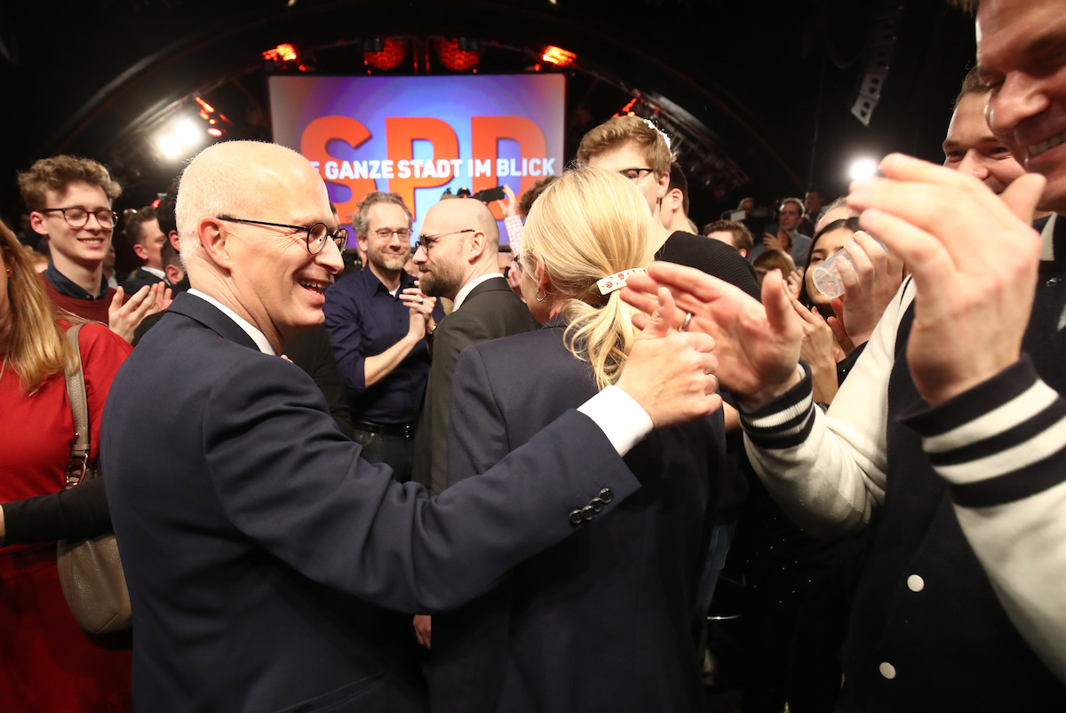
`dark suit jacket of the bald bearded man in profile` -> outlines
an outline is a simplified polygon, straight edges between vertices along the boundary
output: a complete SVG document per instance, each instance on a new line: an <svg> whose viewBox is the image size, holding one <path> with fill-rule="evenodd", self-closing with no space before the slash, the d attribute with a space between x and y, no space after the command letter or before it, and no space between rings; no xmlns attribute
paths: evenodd
<svg viewBox="0 0 1066 713"><path fill-rule="evenodd" d="M502 275L471 290L459 308L441 321L433 335L433 364L415 432L411 480L433 493L441 492L448 485L448 415L452 374L459 353L472 344L539 326Z"/></svg>

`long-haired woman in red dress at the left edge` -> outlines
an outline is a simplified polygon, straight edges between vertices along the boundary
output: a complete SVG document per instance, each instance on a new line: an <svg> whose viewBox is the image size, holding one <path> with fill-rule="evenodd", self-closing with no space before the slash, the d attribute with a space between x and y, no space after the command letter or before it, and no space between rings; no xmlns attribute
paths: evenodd
<svg viewBox="0 0 1066 713"><path fill-rule="evenodd" d="M77 356L64 335L70 323L56 321L32 263L3 223L0 254L0 502L6 503L65 487L74 417L64 368ZM130 346L97 324L82 327L78 342L95 459L103 403ZM0 545L6 545L0 547L0 711L129 710L128 637L95 637L78 628L60 588L55 542L5 542L2 537L14 539L16 531L13 511L5 525L5 511L0 508ZM31 513L19 513L17 529L32 531Z"/></svg>

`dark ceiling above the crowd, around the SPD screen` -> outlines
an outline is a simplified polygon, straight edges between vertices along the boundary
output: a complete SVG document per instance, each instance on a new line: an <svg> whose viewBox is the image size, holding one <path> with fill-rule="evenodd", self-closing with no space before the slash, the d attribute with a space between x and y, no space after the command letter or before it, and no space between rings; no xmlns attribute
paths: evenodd
<svg viewBox="0 0 1066 713"><path fill-rule="evenodd" d="M0 0L0 208L17 210L16 171L55 152L104 161L127 187L117 207L143 205L180 169L149 142L169 112L199 95L228 112L230 136L269 139L261 52L292 43L321 74L365 74L364 40L389 36L478 40L481 72L522 71L546 45L575 52L570 152L636 92L669 108L697 223L742 194L837 195L858 155L941 160L974 44L972 19L940 0ZM851 109L871 50L891 53L865 126Z"/></svg>

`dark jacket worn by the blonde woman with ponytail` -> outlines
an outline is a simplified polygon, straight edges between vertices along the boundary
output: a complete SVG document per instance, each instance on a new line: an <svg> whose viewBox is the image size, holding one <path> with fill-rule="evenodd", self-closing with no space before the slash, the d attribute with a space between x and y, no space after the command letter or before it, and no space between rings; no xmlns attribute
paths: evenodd
<svg viewBox="0 0 1066 713"><path fill-rule="evenodd" d="M563 334L556 318L459 357L452 487L595 393ZM626 456L644 487L610 518L434 616L431 710L702 711L691 626L724 454L721 412L649 435ZM551 487L548 472L523 476Z"/></svg>

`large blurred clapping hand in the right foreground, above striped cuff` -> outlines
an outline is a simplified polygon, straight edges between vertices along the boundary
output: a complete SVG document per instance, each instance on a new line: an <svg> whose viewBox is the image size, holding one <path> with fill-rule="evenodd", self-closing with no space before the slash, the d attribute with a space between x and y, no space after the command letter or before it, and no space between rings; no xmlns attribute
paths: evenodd
<svg viewBox="0 0 1066 713"><path fill-rule="evenodd" d="M907 361L922 398L937 404L1019 358L1040 256L1031 221L1045 179L1027 174L997 197L972 176L899 153L881 171L885 178L853 182L847 201L910 269Z"/></svg>

